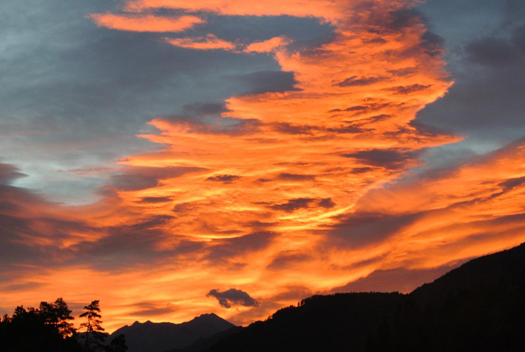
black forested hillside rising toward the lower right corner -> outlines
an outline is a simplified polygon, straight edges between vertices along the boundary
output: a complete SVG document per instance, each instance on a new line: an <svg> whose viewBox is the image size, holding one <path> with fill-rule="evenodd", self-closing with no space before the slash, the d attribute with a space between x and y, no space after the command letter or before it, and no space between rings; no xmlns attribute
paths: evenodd
<svg viewBox="0 0 525 352"><path fill-rule="evenodd" d="M524 327L521 244L409 294L315 295L186 351L525 351Z"/></svg>

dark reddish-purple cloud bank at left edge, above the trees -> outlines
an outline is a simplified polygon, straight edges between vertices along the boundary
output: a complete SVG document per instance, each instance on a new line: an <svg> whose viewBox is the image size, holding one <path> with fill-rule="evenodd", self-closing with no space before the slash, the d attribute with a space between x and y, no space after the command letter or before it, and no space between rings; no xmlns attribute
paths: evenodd
<svg viewBox="0 0 525 352"><path fill-rule="evenodd" d="M10 175L16 170L12 165L0 168L9 171L4 174ZM171 171L167 174L173 175ZM106 201L111 202L111 198ZM172 221L173 216L138 214L137 220L124 225L92 226L82 220L68 220L54 215L55 210L64 209L62 205L51 203L27 189L0 184L2 276L14 268L19 274L25 266L34 270L35 266L45 268L69 264L119 271L139 263L161 262L168 258L175 262L179 254L204 249L203 243L187 241L181 236L174 249L159 252L160 241L168 235L171 239L176 238L176 234L166 234L160 229ZM79 237L79 233L86 238Z"/></svg>

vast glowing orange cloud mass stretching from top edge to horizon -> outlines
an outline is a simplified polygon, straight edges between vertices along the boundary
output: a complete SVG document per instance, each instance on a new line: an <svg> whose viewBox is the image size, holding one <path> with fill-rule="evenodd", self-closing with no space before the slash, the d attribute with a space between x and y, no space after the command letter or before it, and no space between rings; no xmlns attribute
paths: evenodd
<svg viewBox="0 0 525 352"><path fill-rule="evenodd" d="M154 119L158 132L138 137L162 151L118 165L152 184L108 185L100 202L86 206L20 205L27 219L85 224L55 237L53 224L32 222L39 235L20 239L55 246L51 261L81 260L21 265L9 285L33 288L0 285L2 305L61 296L76 307L100 299L109 332L134 320L183 322L209 312L246 325L375 270L452 265L523 242L525 142L453 170L411 171L424 166L429 148L462 139L414 123L453 84L441 50L422 38L421 19L395 23L396 11L416 3L133 0L125 15L89 15L98 26L132 32L204 25L199 12L316 16L335 29L329 43L300 51L286 37L242 44L214 34L160 37L183 48L268 53L293 72L295 90L234 96L224 108L193 105L188 116ZM187 15L154 15L159 8ZM81 256L115 243L137 255L151 251L151 258L112 268ZM219 306L206 297L214 288L241 289L260 304Z"/></svg>

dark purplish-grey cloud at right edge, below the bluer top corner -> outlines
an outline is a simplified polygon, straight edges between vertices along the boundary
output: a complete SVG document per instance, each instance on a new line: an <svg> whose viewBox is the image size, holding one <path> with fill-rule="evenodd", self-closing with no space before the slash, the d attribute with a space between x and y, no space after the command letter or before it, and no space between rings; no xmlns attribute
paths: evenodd
<svg viewBox="0 0 525 352"><path fill-rule="evenodd" d="M525 52L507 39L486 37L467 44L465 53L452 66L457 70L455 85L445 97L419 111L418 121L467 134L470 139L464 144L471 144L470 148L498 148L521 137Z"/></svg>

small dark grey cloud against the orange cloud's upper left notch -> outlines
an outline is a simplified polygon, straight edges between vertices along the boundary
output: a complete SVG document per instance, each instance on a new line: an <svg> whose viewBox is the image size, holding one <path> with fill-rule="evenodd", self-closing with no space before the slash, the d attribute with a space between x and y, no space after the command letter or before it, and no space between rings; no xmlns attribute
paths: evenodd
<svg viewBox="0 0 525 352"><path fill-rule="evenodd" d="M293 72L288 71L258 71L232 77L247 86L246 94L301 90L295 87L297 81Z"/></svg>

